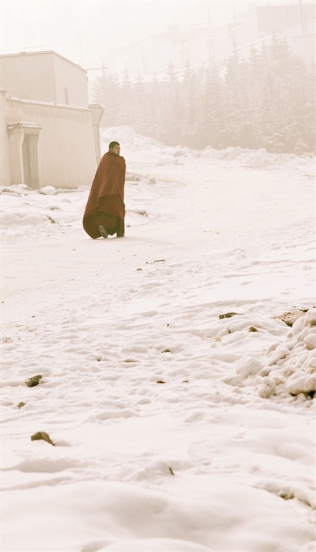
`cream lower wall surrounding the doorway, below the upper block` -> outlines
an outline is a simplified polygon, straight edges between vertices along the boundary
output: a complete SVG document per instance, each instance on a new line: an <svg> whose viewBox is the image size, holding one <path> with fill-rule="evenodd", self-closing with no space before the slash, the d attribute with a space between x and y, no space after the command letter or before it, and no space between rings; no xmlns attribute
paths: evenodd
<svg viewBox="0 0 316 552"><path fill-rule="evenodd" d="M97 168L91 113L88 108L2 98L1 184L11 184L7 124L39 124L39 187L90 186ZM21 183L23 184L23 183Z"/></svg>

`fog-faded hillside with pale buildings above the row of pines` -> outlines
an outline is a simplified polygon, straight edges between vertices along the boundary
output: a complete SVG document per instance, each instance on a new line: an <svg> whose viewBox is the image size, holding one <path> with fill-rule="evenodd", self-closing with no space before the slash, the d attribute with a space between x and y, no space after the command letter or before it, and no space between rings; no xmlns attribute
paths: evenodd
<svg viewBox="0 0 316 552"><path fill-rule="evenodd" d="M110 61L125 63L130 71L145 75L166 72L172 62L177 70L187 62L192 67L225 63L233 50L247 55L251 45L268 40L273 34L285 37L293 53L306 61L315 61L316 4L295 2L255 6L239 14L236 21L212 27L211 21L198 30L179 32L172 28L121 48Z"/></svg>

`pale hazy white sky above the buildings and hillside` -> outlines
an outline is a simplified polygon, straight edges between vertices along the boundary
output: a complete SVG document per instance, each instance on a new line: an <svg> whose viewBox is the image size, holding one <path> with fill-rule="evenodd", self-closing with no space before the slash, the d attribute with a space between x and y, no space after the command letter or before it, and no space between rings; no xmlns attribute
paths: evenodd
<svg viewBox="0 0 316 552"><path fill-rule="evenodd" d="M233 21L253 0L1 0L1 53L55 50L84 68L103 52L168 26ZM258 2L257 2L258 3ZM266 2L260 2L266 3Z"/></svg>

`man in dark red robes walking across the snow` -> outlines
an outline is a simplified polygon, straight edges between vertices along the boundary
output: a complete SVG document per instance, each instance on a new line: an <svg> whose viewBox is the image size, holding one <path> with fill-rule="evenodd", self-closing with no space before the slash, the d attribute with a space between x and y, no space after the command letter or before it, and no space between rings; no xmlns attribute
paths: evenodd
<svg viewBox="0 0 316 552"><path fill-rule="evenodd" d="M82 224L93 239L109 234L124 237L126 163L120 151L119 142L110 142L92 182Z"/></svg>

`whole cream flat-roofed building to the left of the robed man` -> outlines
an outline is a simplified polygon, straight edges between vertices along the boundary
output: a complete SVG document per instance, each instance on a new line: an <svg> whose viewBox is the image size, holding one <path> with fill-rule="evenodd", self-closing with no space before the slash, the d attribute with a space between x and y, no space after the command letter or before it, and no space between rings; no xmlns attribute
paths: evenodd
<svg viewBox="0 0 316 552"><path fill-rule="evenodd" d="M57 52L0 56L1 184L89 185L103 108L88 105L86 71Z"/></svg>

